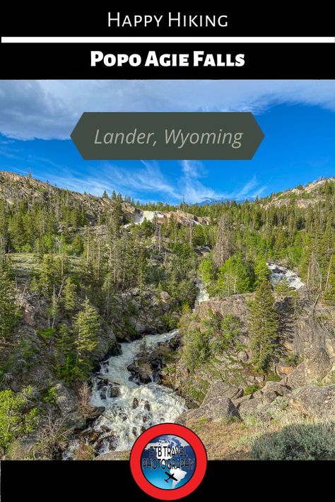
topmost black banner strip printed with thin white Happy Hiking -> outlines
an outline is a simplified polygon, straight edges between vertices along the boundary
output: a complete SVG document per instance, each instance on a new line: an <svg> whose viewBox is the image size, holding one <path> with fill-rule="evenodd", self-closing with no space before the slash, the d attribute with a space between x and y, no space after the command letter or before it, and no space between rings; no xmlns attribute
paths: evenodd
<svg viewBox="0 0 335 502"><path fill-rule="evenodd" d="M69 9L67 2L57 4L6 4L1 6L0 33L1 36L334 36L334 16L329 13L329 2L317 2L317 6L308 7L293 2L280 4L244 4L233 5L224 2L215 7L206 3L202 8L189 6L185 8L180 2L169 1L167 8L160 5L134 8L124 6L122 2L105 2L92 4L88 7L78 4ZM134 22L129 26L117 27L115 23L108 26L108 14L116 17L119 13L121 21L129 16L163 16L159 25L153 20L146 26ZM173 18L180 14L180 26L176 22L168 26L168 16ZM202 22L201 16L227 16L227 25L222 27L216 23L212 26ZM186 16L186 25L184 25ZM194 18L194 16L198 16ZM194 18L194 22L189 21ZM187 26L189 25L189 26ZM196 26L198 25L198 26Z"/></svg>

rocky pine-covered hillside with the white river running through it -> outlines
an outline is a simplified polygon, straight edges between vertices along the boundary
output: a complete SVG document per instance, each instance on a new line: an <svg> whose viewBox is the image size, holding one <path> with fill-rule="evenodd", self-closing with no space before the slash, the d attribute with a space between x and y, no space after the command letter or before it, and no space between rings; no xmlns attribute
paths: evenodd
<svg viewBox="0 0 335 502"><path fill-rule="evenodd" d="M117 456L160 421L210 457L292 424L329 444L334 222L332 180L136 207L0 173L2 457Z"/></svg>

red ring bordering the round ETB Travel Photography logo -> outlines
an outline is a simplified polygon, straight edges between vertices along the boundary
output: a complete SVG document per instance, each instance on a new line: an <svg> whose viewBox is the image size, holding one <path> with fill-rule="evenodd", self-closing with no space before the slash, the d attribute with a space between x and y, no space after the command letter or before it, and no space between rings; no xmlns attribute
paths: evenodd
<svg viewBox="0 0 335 502"><path fill-rule="evenodd" d="M184 486L175 488L174 490L164 490L153 486L144 476L141 469L141 455L148 443L157 436L172 434L179 436L192 446L196 456L196 469L192 478ZM201 481L204 479L207 467L207 454L201 439L196 436L196 433L191 429L179 424L158 424L144 431L139 438L136 439L130 454L130 469L131 474L136 481L136 484L148 495L153 498L159 498L163 501L173 501L178 498L186 497L194 491Z"/></svg>

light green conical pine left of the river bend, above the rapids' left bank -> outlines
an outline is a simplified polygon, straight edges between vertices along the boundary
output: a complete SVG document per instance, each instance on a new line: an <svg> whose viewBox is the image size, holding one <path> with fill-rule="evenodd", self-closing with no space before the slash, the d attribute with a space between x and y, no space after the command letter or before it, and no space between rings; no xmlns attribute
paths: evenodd
<svg viewBox="0 0 335 502"><path fill-rule="evenodd" d="M88 298L83 303L83 309L74 318L74 332L76 340L76 365L82 375L90 371L91 363L89 355L98 346L98 332L100 319L98 312L90 304Z"/></svg>

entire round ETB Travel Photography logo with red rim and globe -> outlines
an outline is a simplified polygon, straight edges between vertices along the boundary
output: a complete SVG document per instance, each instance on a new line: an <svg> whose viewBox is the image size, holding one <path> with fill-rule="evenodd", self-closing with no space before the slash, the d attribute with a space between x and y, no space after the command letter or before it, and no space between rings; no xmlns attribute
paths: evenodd
<svg viewBox="0 0 335 502"><path fill-rule="evenodd" d="M130 455L131 474L155 498L172 501L194 491L204 478L207 455L189 428L160 424L137 438Z"/></svg>

